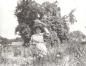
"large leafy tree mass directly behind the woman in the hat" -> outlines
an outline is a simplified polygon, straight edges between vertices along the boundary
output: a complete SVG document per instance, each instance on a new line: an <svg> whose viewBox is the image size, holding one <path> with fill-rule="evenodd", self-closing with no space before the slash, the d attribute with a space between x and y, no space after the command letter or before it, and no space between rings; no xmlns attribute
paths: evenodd
<svg viewBox="0 0 86 66"><path fill-rule="evenodd" d="M57 1L54 3L44 2L42 4L36 3L33 0L21 0L18 2L15 15L18 18L19 25L16 32L19 32L23 38L24 43L29 43L31 35L34 33L34 20L39 19L47 25L51 32L51 37L46 38L47 42L53 45L68 40L69 26L68 23L75 22L74 10L69 15L61 16L61 8L58 7ZM42 27L42 25L40 25Z"/></svg>

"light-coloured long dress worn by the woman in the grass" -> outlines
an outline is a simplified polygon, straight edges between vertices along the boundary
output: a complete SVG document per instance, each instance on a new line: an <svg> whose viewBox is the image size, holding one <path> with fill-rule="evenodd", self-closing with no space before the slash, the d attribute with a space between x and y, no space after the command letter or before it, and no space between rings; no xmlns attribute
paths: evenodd
<svg viewBox="0 0 86 66"><path fill-rule="evenodd" d="M47 55L46 43L43 39L43 33L34 34L31 37L31 43L34 44L41 55Z"/></svg>

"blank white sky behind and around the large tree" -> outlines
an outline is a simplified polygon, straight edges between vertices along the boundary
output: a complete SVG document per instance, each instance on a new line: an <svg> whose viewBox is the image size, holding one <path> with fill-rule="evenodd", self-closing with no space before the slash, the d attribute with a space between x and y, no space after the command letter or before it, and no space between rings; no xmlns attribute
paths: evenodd
<svg viewBox="0 0 86 66"><path fill-rule="evenodd" d="M8 39L16 38L15 28L18 25L17 18L14 15L18 0L0 0L0 35ZM45 1L54 2L56 0L36 0L38 3ZM72 9L77 23L70 25L70 31L80 30L86 34L86 0L58 0L58 6L61 7L61 15L68 14Z"/></svg>

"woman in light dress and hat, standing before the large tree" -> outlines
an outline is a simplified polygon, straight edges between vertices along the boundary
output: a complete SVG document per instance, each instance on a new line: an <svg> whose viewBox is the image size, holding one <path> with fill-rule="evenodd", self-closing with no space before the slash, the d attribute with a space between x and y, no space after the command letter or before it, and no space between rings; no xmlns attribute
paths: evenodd
<svg viewBox="0 0 86 66"><path fill-rule="evenodd" d="M40 26L35 27L35 34L31 36L31 41L30 41L32 45L35 45L36 49L33 48L33 50L37 51L38 55L41 57L43 57L44 55L47 55L48 53L43 36L50 35L46 27L44 27L43 29L42 28L43 27L40 27ZM44 30L43 33L42 33L42 30Z"/></svg>

